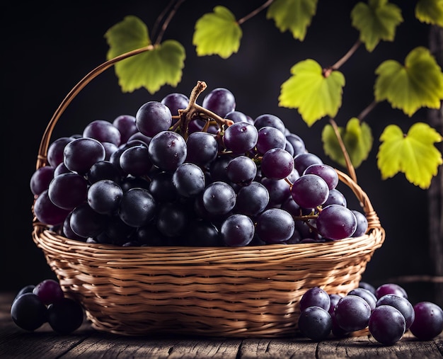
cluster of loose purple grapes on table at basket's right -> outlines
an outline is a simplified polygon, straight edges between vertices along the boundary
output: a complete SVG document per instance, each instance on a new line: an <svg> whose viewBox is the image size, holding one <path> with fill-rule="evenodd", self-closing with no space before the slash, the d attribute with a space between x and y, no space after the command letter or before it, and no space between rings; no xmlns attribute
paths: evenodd
<svg viewBox="0 0 443 359"><path fill-rule="evenodd" d="M300 311L299 330L313 341L367 328L376 341L389 346L408 330L419 340L431 340L443 331L442 308L432 302L413 306L404 288L395 283L374 288L361 282L345 296L312 287L301 297Z"/></svg>

